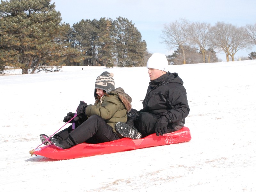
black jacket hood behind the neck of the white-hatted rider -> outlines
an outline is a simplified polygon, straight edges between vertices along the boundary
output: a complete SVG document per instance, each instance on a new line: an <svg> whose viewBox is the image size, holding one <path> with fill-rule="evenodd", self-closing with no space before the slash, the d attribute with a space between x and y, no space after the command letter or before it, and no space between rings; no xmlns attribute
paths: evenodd
<svg viewBox="0 0 256 192"><path fill-rule="evenodd" d="M149 82L150 85L167 84L167 83L179 83L183 85L183 81L179 77L178 73L170 73L170 72L167 72L166 74Z"/></svg>

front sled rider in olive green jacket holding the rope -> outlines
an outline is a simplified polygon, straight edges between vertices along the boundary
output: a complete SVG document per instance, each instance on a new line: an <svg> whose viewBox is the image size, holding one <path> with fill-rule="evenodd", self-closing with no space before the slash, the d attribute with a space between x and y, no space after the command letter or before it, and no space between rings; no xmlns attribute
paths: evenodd
<svg viewBox="0 0 256 192"><path fill-rule="evenodd" d="M96 78L95 103L87 105L80 101L77 116L73 119L74 130L70 125L53 135L52 138L41 134L41 141L48 140L46 144L54 144L58 148L67 149L83 142L102 143L123 138L116 132L115 126L117 122L126 122L127 113L132 108L132 98L121 87L115 89L113 76L112 73L105 71ZM68 122L74 115L74 113L68 113L63 121ZM139 138L141 134L138 135Z"/></svg>

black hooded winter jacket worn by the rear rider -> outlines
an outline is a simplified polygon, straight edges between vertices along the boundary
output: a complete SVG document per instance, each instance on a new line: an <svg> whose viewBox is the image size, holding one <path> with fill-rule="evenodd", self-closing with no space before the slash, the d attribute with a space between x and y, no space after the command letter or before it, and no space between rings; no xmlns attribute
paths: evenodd
<svg viewBox="0 0 256 192"><path fill-rule="evenodd" d="M187 92L177 73L166 73L150 81L140 112L150 112L159 117L158 127L180 130L188 116ZM155 125L156 126L156 125Z"/></svg>

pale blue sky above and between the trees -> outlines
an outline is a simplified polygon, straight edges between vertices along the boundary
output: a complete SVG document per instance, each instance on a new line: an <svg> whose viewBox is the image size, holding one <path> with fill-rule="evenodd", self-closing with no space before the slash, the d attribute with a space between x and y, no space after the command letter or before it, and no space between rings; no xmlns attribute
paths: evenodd
<svg viewBox="0 0 256 192"><path fill-rule="evenodd" d="M180 18L212 25L218 21L236 26L256 23L255 0L52 0L53 2L55 9L61 13L62 22L69 23L70 26L82 19L127 18L140 31L142 39L147 43L148 52L166 55L174 50L168 50L159 36L164 24ZM235 58L247 57L252 51L256 51L256 46L237 52ZM226 61L224 53L218 53L217 56Z"/></svg>

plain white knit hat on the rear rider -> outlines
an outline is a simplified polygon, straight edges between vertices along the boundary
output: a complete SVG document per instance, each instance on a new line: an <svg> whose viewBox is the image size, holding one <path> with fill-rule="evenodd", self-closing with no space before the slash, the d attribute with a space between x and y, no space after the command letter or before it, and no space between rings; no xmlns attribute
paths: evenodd
<svg viewBox="0 0 256 192"><path fill-rule="evenodd" d="M159 69L161 71L168 71L168 65L166 56L161 53L153 53L147 62L147 68Z"/></svg>

